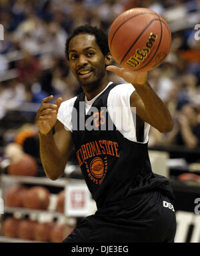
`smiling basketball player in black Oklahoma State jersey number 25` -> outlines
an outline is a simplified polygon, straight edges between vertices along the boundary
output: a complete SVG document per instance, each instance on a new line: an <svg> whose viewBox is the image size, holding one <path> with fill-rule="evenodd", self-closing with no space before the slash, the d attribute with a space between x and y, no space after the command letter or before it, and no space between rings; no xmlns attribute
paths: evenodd
<svg viewBox="0 0 200 256"><path fill-rule="evenodd" d="M63 242L173 242L173 192L167 178L152 172L147 148L150 125L170 132L173 120L147 72L110 66L107 35L89 25L67 39L66 56L83 93L54 104L53 96L43 100L37 112L41 160L55 180L74 145L97 211ZM107 70L127 84L109 81Z"/></svg>

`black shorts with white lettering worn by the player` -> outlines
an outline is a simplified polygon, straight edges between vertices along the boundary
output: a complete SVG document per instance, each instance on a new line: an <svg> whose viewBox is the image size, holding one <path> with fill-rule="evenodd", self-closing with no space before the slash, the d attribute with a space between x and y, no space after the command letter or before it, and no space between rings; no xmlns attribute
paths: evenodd
<svg viewBox="0 0 200 256"><path fill-rule="evenodd" d="M171 201L153 191L82 219L63 243L173 243L175 232Z"/></svg>

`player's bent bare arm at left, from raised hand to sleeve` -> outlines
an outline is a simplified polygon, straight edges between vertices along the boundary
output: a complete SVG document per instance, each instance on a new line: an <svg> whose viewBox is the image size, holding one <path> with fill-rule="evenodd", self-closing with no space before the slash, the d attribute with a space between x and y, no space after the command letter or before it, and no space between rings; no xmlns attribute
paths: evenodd
<svg viewBox="0 0 200 256"><path fill-rule="evenodd" d="M54 104L50 104L52 99L53 96L43 99L37 111L37 125L40 156L45 174L51 180L56 180L63 175L73 143L71 132L65 130L63 124L57 120L57 112L62 99L58 98ZM55 128L54 134L53 127Z"/></svg>

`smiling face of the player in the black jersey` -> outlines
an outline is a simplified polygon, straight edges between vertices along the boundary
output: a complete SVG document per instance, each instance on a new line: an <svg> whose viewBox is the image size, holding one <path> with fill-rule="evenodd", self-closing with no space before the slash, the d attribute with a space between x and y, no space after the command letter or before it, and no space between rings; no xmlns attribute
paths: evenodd
<svg viewBox="0 0 200 256"><path fill-rule="evenodd" d="M81 86L87 86L88 90L100 86L106 74L106 57L94 35L79 34L71 39L69 65Z"/></svg>

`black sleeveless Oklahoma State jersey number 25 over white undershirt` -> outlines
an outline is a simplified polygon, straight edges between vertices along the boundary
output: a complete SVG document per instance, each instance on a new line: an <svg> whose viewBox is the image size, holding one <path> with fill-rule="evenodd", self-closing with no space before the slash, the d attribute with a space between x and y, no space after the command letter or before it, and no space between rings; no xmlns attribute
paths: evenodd
<svg viewBox="0 0 200 256"><path fill-rule="evenodd" d="M75 152L97 209L119 207L121 202L150 190L159 190L173 199L169 180L151 170L148 144L128 140L111 121L107 98L115 86L111 84L93 102L96 112L85 114L84 93L77 96L72 112Z"/></svg>

